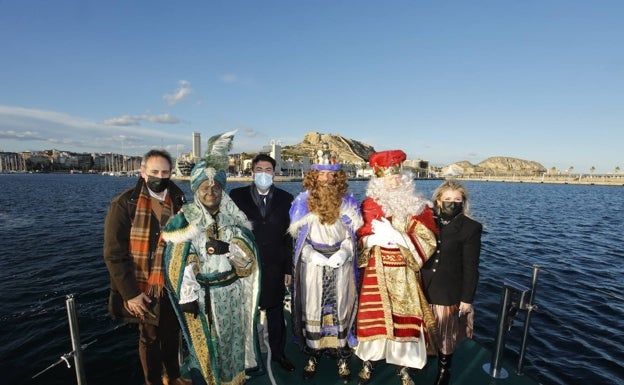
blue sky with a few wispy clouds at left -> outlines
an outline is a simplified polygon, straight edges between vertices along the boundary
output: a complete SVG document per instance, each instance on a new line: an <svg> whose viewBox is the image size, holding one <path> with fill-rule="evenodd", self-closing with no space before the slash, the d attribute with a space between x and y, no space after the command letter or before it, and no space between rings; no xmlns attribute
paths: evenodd
<svg viewBox="0 0 624 385"><path fill-rule="evenodd" d="M0 0L0 151L306 133L624 171L621 0Z"/></svg>

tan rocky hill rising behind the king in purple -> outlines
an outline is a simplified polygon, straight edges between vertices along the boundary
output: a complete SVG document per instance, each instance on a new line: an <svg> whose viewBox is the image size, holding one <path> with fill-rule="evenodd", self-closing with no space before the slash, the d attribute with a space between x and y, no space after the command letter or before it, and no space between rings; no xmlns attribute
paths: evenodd
<svg viewBox="0 0 624 385"><path fill-rule="evenodd" d="M339 163L366 163L370 154L375 152L372 146L341 135L308 132L303 141L282 148L282 158L300 159L303 156L314 159L316 152L326 147Z"/></svg>

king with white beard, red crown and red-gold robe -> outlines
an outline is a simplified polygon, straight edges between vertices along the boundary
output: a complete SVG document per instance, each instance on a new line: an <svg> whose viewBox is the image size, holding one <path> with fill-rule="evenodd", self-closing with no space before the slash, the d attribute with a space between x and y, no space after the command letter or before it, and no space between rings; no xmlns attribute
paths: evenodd
<svg viewBox="0 0 624 385"><path fill-rule="evenodd" d="M402 171L405 158L403 151L393 150L369 160L375 175L357 232L363 274L355 354L364 361L361 385L370 380L374 362L383 359L399 366L403 385L412 385L407 368L424 367L428 345L437 336L420 279L420 268L436 249L437 227L431 203Z"/></svg>

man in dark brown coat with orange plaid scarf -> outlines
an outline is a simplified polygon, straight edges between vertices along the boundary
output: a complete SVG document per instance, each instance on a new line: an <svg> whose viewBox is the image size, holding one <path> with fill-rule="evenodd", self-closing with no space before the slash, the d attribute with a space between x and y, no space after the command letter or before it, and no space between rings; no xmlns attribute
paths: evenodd
<svg viewBox="0 0 624 385"><path fill-rule="evenodd" d="M187 385L178 364L179 324L165 288L161 228L186 202L170 181L171 155L143 156L135 187L115 197L104 222L104 262L110 273L109 313L138 323L139 357L147 385Z"/></svg>

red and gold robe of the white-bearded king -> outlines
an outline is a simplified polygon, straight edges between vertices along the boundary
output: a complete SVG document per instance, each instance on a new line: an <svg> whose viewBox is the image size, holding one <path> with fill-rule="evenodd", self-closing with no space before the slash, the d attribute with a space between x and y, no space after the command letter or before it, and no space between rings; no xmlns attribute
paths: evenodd
<svg viewBox="0 0 624 385"><path fill-rule="evenodd" d="M358 230L363 268L357 314L356 355L362 360L422 368L427 361L435 320L422 291L420 268L435 252L437 227L429 206L408 218L386 217L373 199L362 202L364 226ZM388 219L407 247L367 247L372 221ZM433 349L432 349L433 350ZM434 351L434 350L433 350Z"/></svg>

